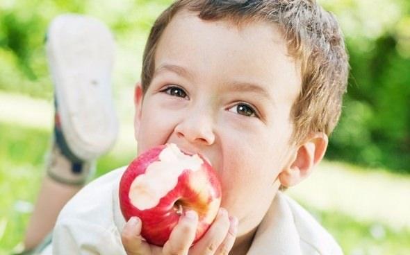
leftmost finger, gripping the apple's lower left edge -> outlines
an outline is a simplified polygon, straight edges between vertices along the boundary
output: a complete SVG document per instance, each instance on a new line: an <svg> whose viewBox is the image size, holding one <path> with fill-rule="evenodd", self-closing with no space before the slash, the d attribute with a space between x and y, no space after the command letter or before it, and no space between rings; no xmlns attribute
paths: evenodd
<svg viewBox="0 0 410 255"><path fill-rule="evenodd" d="M124 229L122 229L121 240L126 254L151 254L149 245L142 240L141 227L141 220L137 217L132 217L126 222Z"/></svg>

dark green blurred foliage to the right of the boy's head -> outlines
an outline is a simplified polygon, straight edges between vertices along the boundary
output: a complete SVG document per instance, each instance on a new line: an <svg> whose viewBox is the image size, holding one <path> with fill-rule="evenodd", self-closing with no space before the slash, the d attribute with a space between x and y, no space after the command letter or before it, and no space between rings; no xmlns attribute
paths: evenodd
<svg viewBox="0 0 410 255"><path fill-rule="evenodd" d="M322 1L341 21L350 86L327 156L410 173L409 1Z"/></svg>

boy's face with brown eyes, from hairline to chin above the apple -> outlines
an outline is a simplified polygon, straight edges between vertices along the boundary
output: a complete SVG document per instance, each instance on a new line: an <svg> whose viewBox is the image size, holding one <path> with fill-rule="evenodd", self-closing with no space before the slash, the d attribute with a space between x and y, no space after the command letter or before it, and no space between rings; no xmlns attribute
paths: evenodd
<svg viewBox="0 0 410 255"><path fill-rule="evenodd" d="M290 109L301 80L279 29L179 12L155 63L143 100L136 98L138 152L176 143L207 157L220 177L222 206L240 222L238 236L251 231L293 161Z"/></svg>

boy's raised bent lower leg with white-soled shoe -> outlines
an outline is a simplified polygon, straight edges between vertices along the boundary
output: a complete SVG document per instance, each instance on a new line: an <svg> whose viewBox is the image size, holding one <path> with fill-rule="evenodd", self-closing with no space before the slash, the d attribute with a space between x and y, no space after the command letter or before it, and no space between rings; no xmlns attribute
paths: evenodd
<svg viewBox="0 0 410 255"><path fill-rule="evenodd" d="M26 249L49 234L117 136L110 91L114 43L108 28L96 19L62 15L51 23L46 49L55 89L54 141L26 229Z"/></svg>

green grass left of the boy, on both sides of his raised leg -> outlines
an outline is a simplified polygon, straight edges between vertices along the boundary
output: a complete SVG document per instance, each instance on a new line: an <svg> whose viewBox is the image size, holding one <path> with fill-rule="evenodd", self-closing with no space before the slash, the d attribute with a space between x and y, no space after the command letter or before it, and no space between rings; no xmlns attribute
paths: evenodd
<svg viewBox="0 0 410 255"><path fill-rule="evenodd" d="M23 239L30 207L44 174L49 131L0 123L0 254L10 254ZM131 152L108 154L97 162L97 176L124 166Z"/></svg>

